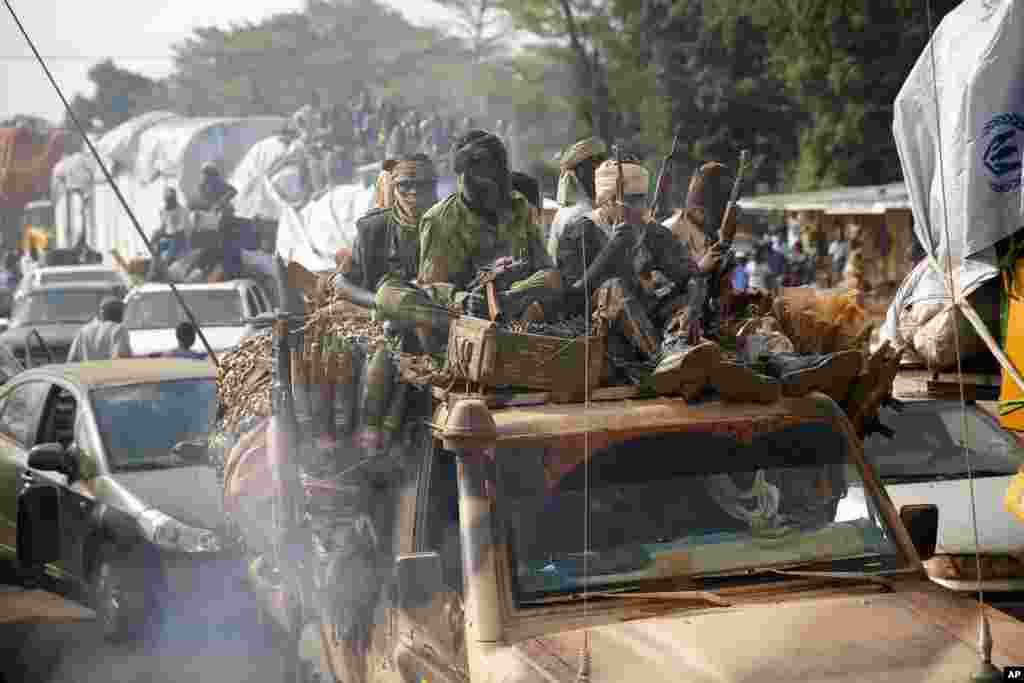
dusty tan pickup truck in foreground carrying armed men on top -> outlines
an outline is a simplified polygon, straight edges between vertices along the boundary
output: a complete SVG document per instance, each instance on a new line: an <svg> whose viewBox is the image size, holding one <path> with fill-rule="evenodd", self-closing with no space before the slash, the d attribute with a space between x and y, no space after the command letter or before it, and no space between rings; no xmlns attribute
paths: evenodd
<svg viewBox="0 0 1024 683"><path fill-rule="evenodd" d="M923 569L936 508L897 510L822 394L446 393L422 423L399 483L375 494L390 578L371 623L355 641L307 626L305 680L938 682L983 667L978 603ZM295 633L266 564L251 580ZM1024 625L983 610L991 663L1024 664Z"/></svg>

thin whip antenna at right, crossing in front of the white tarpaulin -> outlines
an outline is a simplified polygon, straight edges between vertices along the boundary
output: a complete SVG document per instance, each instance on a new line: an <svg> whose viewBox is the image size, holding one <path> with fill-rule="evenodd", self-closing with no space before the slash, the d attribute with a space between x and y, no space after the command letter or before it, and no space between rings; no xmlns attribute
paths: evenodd
<svg viewBox="0 0 1024 683"><path fill-rule="evenodd" d="M6 0L5 0L6 1ZM925 0L925 13L928 16L929 34L929 58L932 65L932 95L935 99L935 126L936 134L939 138L939 183L942 194L942 226L946 238L946 249L951 249L952 241L949 234L949 207L946 203L946 166L942 157L942 120L939 117L939 85L935 75L935 25L932 17L932 1ZM949 290L949 297L952 299L953 308L959 312L961 302L956 294L956 284L953 281L953 265L951 254L946 256L946 287ZM988 617L985 614L985 593L981 588L981 542L978 537L978 510L974 495L974 468L971 465L971 450L968 447L968 422L967 422L967 397L964 390L964 361L961 356L959 327L953 326L953 348L956 352L956 381L959 384L961 401L961 446L964 450L964 459L967 463L968 484L971 490L971 525L974 530L974 560L977 577L978 590L978 654L981 657L978 671L972 676L972 681L981 683L983 681L998 681L999 671L992 666L992 632L989 628Z"/></svg>

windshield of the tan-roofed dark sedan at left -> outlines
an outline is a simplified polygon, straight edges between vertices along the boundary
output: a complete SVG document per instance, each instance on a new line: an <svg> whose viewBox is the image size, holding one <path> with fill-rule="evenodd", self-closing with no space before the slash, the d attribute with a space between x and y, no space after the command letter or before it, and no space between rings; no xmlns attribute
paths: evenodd
<svg viewBox="0 0 1024 683"><path fill-rule="evenodd" d="M180 465L175 444L210 432L217 389L212 379L173 380L92 391L96 424L112 470Z"/></svg>

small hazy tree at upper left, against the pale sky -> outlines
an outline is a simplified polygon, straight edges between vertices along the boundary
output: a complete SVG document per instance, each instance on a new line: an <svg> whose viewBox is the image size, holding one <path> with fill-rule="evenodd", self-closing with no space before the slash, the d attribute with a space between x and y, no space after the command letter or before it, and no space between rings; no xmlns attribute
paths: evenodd
<svg viewBox="0 0 1024 683"><path fill-rule="evenodd" d="M167 89L163 83L122 69L113 59L104 59L89 69L88 78L93 84L92 96L77 94L71 102L72 111L83 125L98 120L109 129L145 112L167 106ZM67 115L63 126L74 127Z"/></svg>

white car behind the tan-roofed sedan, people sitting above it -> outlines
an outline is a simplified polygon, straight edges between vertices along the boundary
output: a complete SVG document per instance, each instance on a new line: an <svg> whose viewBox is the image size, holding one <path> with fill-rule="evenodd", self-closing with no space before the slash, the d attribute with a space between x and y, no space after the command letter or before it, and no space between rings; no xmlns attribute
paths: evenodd
<svg viewBox="0 0 1024 683"><path fill-rule="evenodd" d="M177 285L177 289L215 352L237 346L249 322L270 310L262 288L251 280ZM142 285L125 298L125 327L135 355L156 356L176 349L175 328L187 321L169 285ZM195 350L205 349L197 341Z"/></svg>

